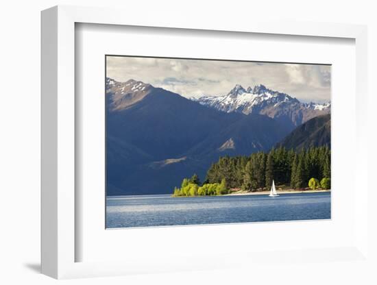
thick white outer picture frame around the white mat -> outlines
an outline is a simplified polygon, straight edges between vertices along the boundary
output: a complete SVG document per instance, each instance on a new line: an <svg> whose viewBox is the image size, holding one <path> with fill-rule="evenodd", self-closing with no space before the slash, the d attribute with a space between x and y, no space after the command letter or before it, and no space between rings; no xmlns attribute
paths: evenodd
<svg viewBox="0 0 377 285"><path fill-rule="evenodd" d="M214 17L211 21L154 13L143 18L118 9L56 6L42 12L42 273L55 278L95 277L132 273L170 272L193 269L225 269L239 267L255 260L305 260L310 256L317 262L326 254L335 260L368 262L367 248L367 28L363 25L334 23L277 22L269 18L243 22L225 21ZM254 252L252 255L234 252L218 256L186 256L184 262L151 256L150 260L130 258L122 261L77 262L75 251L82 246L75 238L77 197L75 187L75 23L127 25L228 31L258 34L280 34L302 37L349 38L356 45L356 156L354 179L359 190L354 200L354 243L343 247L322 249L287 249L280 253ZM351 187L351 186L350 186ZM153 230L153 229L152 229ZM279 258L280 256L280 258ZM307 259L307 258L306 258ZM193 265L195 264L195 265ZM278 265L276 265L278 266Z"/></svg>

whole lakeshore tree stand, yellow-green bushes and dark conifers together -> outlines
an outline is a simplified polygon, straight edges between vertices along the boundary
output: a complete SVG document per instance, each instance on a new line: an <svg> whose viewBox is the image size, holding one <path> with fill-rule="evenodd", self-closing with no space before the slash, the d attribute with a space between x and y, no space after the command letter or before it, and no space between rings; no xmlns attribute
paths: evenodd
<svg viewBox="0 0 377 285"><path fill-rule="evenodd" d="M250 156L223 156L212 163L201 186L199 177L185 178L174 196L221 195L231 188L246 191L269 189L276 185L293 189L310 187L330 189L331 152L329 147L300 151L284 147L252 153Z"/></svg>

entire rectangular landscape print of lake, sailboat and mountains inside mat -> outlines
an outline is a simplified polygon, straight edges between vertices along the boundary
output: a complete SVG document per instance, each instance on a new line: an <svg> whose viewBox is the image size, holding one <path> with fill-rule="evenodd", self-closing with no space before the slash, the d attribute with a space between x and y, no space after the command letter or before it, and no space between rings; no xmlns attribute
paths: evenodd
<svg viewBox="0 0 377 285"><path fill-rule="evenodd" d="M106 228L331 218L329 64L106 55Z"/></svg>

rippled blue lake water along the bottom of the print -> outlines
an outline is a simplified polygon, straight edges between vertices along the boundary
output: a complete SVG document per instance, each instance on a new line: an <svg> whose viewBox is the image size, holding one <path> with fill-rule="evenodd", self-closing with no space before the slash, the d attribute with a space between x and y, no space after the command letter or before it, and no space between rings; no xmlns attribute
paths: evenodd
<svg viewBox="0 0 377 285"><path fill-rule="evenodd" d="M214 197L110 196L106 227L330 219L330 192Z"/></svg>

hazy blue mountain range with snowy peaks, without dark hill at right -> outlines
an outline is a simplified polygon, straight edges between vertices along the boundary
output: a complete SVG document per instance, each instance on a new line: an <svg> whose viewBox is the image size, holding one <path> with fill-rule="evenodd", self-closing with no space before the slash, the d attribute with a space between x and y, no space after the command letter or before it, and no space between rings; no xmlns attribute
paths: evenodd
<svg viewBox="0 0 377 285"><path fill-rule="evenodd" d="M228 101L210 105L204 103L210 97L186 99L134 79L106 78L107 195L171 193L184 177L197 173L203 180L220 156L269 151L303 118L330 112L264 86L237 85L225 97L247 96L249 103L225 108Z"/></svg>

